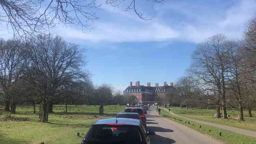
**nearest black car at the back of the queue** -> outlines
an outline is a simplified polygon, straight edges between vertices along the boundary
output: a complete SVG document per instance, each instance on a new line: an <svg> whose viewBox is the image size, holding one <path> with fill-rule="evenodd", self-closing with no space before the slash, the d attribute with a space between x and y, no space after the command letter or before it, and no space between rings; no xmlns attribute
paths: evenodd
<svg viewBox="0 0 256 144"><path fill-rule="evenodd" d="M141 120L131 118L100 119L90 127L81 144L150 144Z"/></svg>

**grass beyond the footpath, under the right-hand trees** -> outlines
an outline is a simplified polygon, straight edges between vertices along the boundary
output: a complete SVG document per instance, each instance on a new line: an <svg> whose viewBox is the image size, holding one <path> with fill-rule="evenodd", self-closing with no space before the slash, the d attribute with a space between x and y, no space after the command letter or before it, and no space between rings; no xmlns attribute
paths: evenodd
<svg viewBox="0 0 256 144"><path fill-rule="evenodd" d="M228 115L230 115L229 119L224 118L216 118L213 115L216 113L216 110L206 110L206 109L180 109L180 107L171 107L173 113L185 116L188 118L194 118L197 120L208 121L211 123L227 125L231 127L241 128L256 131L256 117L248 117L248 111L244 111L245 121L239 121L237 119L233 119L232 117L238 118L240 115L237 110L227 110ZM256 111L252 111L252 115L256 116Z"/></svg>

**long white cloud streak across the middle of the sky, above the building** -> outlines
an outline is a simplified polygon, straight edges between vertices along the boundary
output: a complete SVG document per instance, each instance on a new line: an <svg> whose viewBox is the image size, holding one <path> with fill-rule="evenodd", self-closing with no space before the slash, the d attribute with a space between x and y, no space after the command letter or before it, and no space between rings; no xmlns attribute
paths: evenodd
<svg viewBox="0 0 256 144"><path fill-rule="evenodd" d="M57 33L65 38L76 38L88 41L138 42L165 41L177 38L179 33L159 23L148 25L118 25L115 23L98 23L96 29L83 33L74 28L60 28Z"/></svg>

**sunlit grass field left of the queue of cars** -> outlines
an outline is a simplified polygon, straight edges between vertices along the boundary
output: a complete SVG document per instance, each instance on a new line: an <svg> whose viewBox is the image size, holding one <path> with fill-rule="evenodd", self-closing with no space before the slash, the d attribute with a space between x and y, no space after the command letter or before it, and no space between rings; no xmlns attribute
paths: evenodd
<svg viewBox="0 0 256 144"><path fill-rule="evenodd" d="M114 117L125 106L104 106L104 116L99 116L99 106L54 105L49 123L38 123L39 106L33 114L32 105L17 105L13 117L28 118L26 121L0 121L0 144L80 144L89 127L100 118ZM4 105L0 105L4 109ZM0 119L9 113L4 112ZM82 137L77 137L80 132Z"/></svg>

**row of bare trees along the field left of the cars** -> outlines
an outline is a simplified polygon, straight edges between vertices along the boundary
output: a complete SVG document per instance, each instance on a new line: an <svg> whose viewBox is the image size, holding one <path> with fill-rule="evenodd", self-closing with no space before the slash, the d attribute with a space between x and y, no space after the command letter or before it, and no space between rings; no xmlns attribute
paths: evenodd
<svg viewBox="0 0 256 144"><path fill-rule="evenodd" d="M35 113L35 104L40 104L39 122L47 122L53 104L113 104L114 98L123 102L112 86L93 85L85 52L51 34L26 41L1 39L0 97L5 111L15 113L17 103L29 102Z"/></svg>

